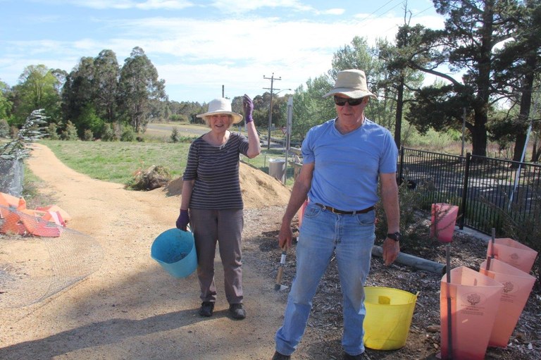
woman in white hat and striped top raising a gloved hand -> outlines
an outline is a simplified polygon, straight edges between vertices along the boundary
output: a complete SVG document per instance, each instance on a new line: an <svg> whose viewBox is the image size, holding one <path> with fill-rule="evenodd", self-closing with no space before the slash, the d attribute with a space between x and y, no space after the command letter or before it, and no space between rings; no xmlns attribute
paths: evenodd
<svg viewBox="0 0 541 360"><path fill-rule="evenodd" d="M239 154L250 159L259 155L261 145L251 116L254 105L248 95L242 100L248 139L229 130L242 115L231 111L227 99L214 99L204 118L211 131L189 147L183 176L182 201L177 228L194 232L197 250L197 276L201 287L200 316L212 316L216 302L214 254L219 244L223 264L225 297L232 318L243 319L241 234L244 225L239 180ZM189 209L189 213L188 213Z"/></svg>

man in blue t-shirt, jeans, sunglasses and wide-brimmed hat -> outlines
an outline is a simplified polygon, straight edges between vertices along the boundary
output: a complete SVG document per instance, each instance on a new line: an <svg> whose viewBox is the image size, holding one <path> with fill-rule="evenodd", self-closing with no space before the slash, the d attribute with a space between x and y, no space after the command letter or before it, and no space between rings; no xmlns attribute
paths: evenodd
<svg viewBox="0 0 541 360"><path fill-rule="evenodd" d="M343 294L343 359L363 359L363 285L375 240L378 180L388 224L383 242L385 265L400 251L398 149L389 130L364 116L369 99L376 97L368 91L361 70L338 73L335 87L323 97L331 95L337 118L311 128L306 135L303 165L278 235L280 247L291 247L292 218L308 197L297 243L297 274L283 325L275 336L273 360L290 359L297 348L313 295L332 256L337 260Z"/></svg>

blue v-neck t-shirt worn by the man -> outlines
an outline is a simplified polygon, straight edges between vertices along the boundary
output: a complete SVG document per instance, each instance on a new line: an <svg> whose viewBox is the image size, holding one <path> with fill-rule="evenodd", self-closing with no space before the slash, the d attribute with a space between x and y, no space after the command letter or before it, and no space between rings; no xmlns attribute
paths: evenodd
<svg viewBox="0 0 541 360"><path fill-rule="evenodd" d="M367 118L342 135L335 121L314 126L302 143L303 163L315 163L311 202L355 211L378 201L380 173L396 173L398 149L389 130Z"/></svg>

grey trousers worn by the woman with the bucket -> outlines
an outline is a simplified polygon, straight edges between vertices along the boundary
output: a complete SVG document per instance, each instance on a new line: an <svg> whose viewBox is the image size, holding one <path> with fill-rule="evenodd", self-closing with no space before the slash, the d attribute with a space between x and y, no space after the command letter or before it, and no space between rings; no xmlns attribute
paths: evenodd
<svg viewBox="0 0 541 360"><path fill-rule="evenodd" d="M201 301L216 302L214 257L216 242L223 266L225 298L229 304L242 303L242 209L189 209L197 251L197 277Z"/></svg>

